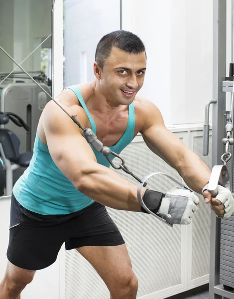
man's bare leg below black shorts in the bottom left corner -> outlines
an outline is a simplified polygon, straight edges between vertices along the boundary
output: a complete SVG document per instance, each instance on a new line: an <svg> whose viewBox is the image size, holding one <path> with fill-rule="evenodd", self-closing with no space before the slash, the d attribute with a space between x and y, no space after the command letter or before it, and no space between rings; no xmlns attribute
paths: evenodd
<svg viewBox="0 0 234 299"><path fill-rule="evenodd" d="M21 292L33 280L35 272L8 262L5 276L0 283L0 299L20 299Z"/></svg>

